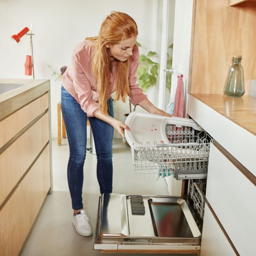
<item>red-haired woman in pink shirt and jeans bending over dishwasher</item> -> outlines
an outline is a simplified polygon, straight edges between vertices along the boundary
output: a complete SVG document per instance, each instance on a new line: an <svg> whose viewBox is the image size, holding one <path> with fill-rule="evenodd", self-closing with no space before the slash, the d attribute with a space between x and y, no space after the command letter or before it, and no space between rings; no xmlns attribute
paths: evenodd
<svg viewBox="0 0 256 256"><path fill-rule="evenodd" d="M82 204L83 166L86 155L87 117L97 154L100 193L112 192L113 129L124 137L130 131L113 117L111 94L115 101L130 96L131 103L149 113L169 116L154 107L136 84L139 50L137 24L127 14L111 12L103 21L99 35L86 38L73 51L72 61L63 75L61 110L67 130L70 158L67 178L74 210L73 224L82 236L93 231Z"/></svg>

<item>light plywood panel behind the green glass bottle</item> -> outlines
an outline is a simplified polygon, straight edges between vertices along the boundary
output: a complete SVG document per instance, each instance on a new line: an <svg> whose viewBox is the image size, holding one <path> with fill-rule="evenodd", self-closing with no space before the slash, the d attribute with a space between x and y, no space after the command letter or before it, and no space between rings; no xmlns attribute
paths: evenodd
<svg viewBox="0 0 256 256"><path fill-rule="evenodd" d="M223 94L232 57L242 55L245 94L256 75L256 3L194 0L189 93Z"/></svg>

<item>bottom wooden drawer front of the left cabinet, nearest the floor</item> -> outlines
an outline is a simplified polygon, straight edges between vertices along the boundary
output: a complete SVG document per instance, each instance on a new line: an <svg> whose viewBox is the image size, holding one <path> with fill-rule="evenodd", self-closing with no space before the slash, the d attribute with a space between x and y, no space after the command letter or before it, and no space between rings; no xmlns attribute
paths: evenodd
<svg viewBox="0 0 256 256"><path fill-rule="evenodd" d="M1 255L19 254L43 201L43 154L41 154L0 211Z"/></svg>

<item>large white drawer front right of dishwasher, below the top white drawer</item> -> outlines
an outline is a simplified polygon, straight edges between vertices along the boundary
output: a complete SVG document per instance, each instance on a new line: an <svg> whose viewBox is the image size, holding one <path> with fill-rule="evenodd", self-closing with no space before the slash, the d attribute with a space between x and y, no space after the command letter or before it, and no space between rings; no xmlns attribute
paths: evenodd
<svg viewBox="0 0 256 256"><path fill-rule="evenodd" d="M225 154L233 163L215 145L210 146L206 198L239 254L254 255L256 186Z"/></svg>

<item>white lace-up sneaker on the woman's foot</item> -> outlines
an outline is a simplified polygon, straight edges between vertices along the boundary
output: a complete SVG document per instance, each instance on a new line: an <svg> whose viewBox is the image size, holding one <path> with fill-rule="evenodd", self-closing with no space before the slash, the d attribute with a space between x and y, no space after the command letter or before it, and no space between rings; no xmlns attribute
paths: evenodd
<svg viewBox="0 0 256 256"><path fill-rule="evenodd" d="M81 236L90 236L93 233L93 229L90 226L90 221L86 216L84 210L81 210L73 216L73 225L76 228L76 232Z"/></svg>

